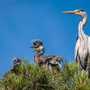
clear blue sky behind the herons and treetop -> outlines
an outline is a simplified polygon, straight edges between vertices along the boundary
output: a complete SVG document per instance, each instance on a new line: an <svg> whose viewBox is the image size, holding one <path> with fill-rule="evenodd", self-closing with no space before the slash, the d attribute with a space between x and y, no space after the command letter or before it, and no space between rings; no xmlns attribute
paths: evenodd
<svg viewBox="0 0 90 90"><path fill-rule="evenodd" d="M74 48L78 36L75 15L61 13L84 9L88 23L84 32L90 35L89 0L0 0L0 74L12 67L14 57L33 62L29 46L33 39L41 39L44 55L60 55L74 61Z"/></svg>

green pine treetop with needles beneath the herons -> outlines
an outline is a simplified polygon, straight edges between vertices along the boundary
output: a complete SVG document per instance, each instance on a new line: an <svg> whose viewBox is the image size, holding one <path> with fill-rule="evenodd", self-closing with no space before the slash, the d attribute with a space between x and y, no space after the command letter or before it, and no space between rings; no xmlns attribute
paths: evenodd
<svg viewBox="0 0 90 90"><path fill-rule="evenodd" d="M27 61L8 71L0 79L0 90L89 90L90 80L87 73L78 72L78 65L63 62L49 72L46 67L39 67Z"/></svg>

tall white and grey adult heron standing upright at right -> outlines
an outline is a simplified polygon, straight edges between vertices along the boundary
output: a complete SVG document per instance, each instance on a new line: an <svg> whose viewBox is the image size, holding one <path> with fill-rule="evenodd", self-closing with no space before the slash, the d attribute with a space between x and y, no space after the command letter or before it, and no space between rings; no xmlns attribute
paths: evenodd
<svg viewBox="0 0 90 90"><path fill-rule="evenodd" d="M83 31L87 24L87 14L84 10L66 11L62 13L74 14L83 18L78 26L78 39L75 47L75 61L78 62L78 70L87 71L90 78L90 37Z"/></svg>

